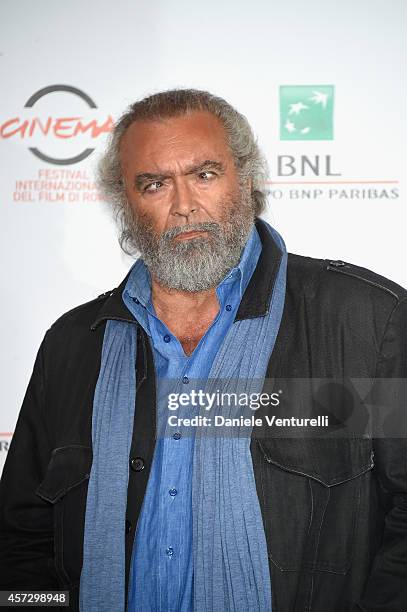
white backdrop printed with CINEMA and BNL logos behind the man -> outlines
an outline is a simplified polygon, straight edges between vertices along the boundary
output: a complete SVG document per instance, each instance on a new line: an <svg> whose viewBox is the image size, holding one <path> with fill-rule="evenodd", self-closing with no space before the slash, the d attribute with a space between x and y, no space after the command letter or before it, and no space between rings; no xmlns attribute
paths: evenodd
<svg viewBox="0 0 407 612"><path fill-rule="evenodd" d="M225 97L267 156L289 250L407 285L406 17L404 0L2 3L0 471L45 331L132 263L94 168L146 94Z"/></svg>

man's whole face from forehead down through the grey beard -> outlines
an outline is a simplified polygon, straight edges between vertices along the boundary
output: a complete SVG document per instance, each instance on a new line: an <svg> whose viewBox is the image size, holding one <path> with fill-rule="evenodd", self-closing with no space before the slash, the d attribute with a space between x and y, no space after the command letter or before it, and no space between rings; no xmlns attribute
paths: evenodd
<svg viewBox="0 0 407 612"><path fill-rule="evenodd" d="M202 291L237 264L253 223L220 121L193 112L136 121L120 147L130 229L152 275L164 286Z"/></svg>

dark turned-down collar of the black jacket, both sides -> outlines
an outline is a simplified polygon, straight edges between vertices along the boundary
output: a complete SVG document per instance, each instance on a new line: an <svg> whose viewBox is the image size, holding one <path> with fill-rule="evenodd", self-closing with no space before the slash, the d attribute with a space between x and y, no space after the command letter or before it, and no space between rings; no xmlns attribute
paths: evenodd
<svg viewBox="0 0 407 612"><path fill-rule="evenodd" d="M235 321L254 319L267 314L280 266L282 253L270 236L266 223L261 219L256 219L256 229L260 236L262 250L257 266L243 294ZM110 295L108 295L97 313L96 319L91 325L92 330L95 330L103 321L108 319L136 323L135 318L127 309L122 299L122 293L129 275L130 272L116 289L108 292ZM104 296L105 294L101 297Z"/></svg>

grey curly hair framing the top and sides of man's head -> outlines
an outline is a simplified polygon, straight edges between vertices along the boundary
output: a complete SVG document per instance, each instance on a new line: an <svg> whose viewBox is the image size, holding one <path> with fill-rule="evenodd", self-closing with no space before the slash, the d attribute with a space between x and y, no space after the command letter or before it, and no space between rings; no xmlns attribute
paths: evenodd
<svg viewBox="0 0 407 612"><path fill-rule="evenodd" d="M132 226L134 211L130 206L122 178L120 141L134 121L158 121L193 111L208 111L223 124L240 180L251 179L254 216L266 208L268 169L246 117L223 98L197 89L171 89L148 96L132 104L116 123L105 153L98 164L99 191L112 206L119 226L119 243L125 253L134 254Z"/></svg>

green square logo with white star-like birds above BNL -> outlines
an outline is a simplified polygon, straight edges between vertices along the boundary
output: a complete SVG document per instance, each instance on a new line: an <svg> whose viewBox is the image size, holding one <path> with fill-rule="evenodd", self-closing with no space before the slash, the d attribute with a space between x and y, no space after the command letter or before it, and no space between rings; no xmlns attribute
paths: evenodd
<svg viewBox="0 0 407 612"><path fill-rule="evenodd" d="M333 140L333 85L281 85L280 139Z"/></svg>

